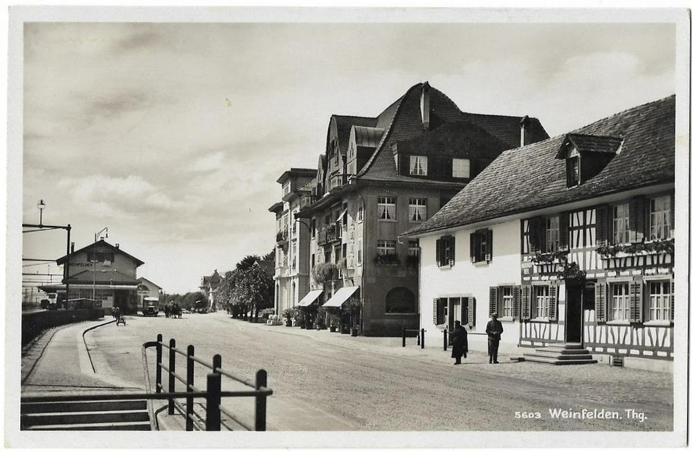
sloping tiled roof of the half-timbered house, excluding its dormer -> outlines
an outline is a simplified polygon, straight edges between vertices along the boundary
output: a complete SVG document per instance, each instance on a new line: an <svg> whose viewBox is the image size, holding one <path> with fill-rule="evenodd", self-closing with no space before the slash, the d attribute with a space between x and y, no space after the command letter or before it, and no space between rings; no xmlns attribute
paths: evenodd
<svg viewBox="0 0 692 451"><path fill-rule="evenodd" d="M641 105L574 131L622 139L599 174L567 188L565 135L504 151L444 208L406 234L444 230L552 205L591 199L675 178L675 96Z"/></svg>

